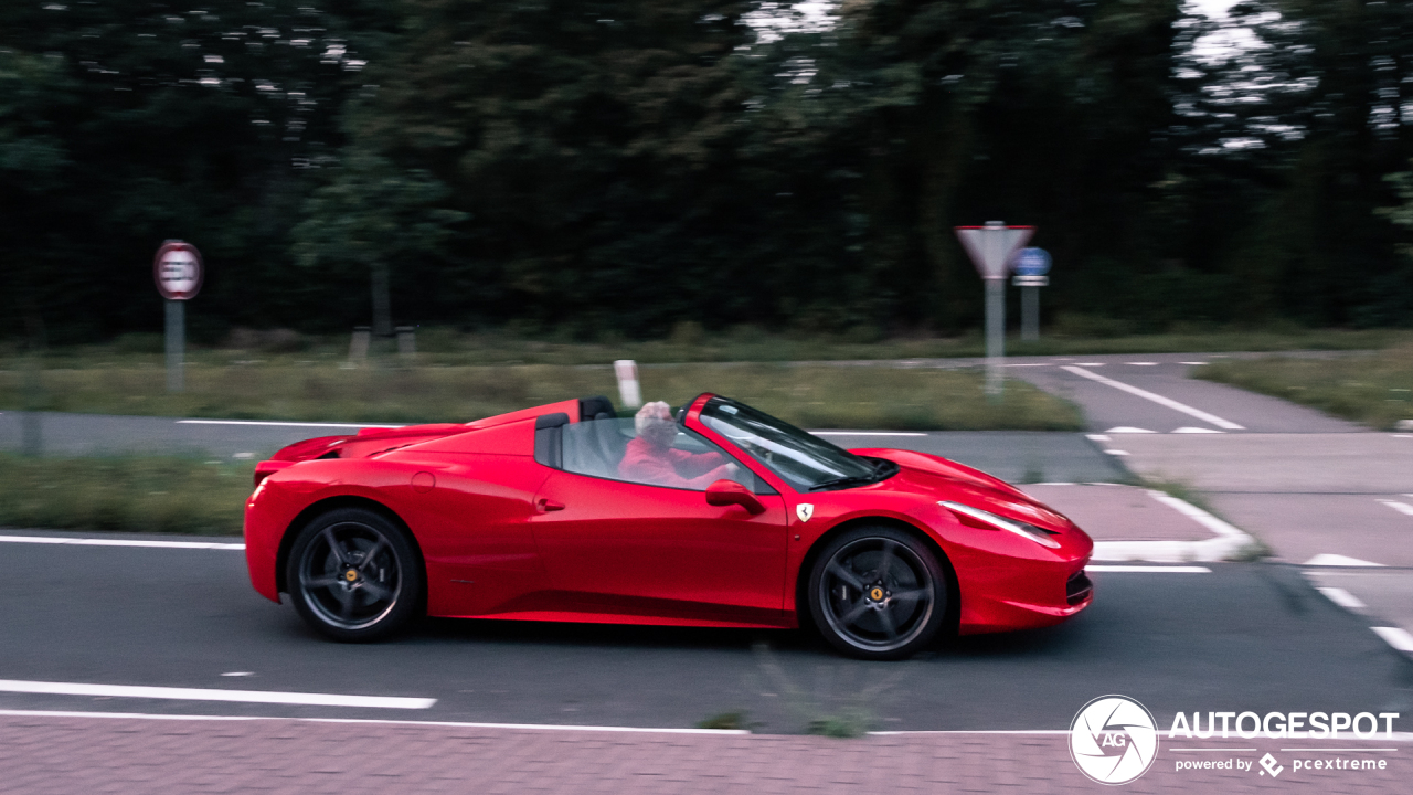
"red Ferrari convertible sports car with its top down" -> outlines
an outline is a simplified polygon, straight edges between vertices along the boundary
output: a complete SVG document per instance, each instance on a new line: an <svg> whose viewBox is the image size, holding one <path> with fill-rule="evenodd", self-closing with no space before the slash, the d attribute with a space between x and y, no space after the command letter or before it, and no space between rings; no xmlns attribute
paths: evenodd
<svg viewBox="0 0 1413 795"><path fill-rule="evenodd" d="M292 444L256 468L250 579L341 641L420 614L808 621L868 659L1091 601L1089 536L985 472L846 451L711 393L661 422L653 447L585 398Z"/></svg>

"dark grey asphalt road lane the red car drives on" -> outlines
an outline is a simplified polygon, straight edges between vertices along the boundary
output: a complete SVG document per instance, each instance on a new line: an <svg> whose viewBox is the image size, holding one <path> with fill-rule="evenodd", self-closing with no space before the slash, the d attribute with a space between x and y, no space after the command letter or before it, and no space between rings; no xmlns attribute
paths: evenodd
<svg viewBox="0 0 1413 795"><path fill-rule="evenodd" d="M1065 625L865 663L786 631L439 620L391 642L339 645L254 594L240 552L3 543L3 679L437 702L393 710L0 692L0 709L661 727L746 710L773 733L859 710L887 730L1033 730L1065 729L1085 702L1116 692L1163 726L1181 710L1413 719L1413 665L1299 570L1211 569L1095 573L1094 607Z"/></svg>

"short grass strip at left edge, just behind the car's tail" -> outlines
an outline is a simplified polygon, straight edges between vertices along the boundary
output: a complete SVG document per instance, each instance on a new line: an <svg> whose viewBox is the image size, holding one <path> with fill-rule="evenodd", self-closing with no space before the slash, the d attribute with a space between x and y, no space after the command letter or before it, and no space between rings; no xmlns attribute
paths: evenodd
<svg viewBox="0 0 1413 795"><path fill-rule="evenodd" d="M0 454L0 526L240 535L253 463Z"/></svg>

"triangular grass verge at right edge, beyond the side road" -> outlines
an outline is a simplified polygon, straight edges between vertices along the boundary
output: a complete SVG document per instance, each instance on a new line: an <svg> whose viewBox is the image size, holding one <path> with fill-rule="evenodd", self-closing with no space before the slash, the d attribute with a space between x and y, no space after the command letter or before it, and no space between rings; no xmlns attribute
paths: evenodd
<svg viewBox="0 0 1413 795"><path fill-rule="evenodd" d="M1413 344L1338 359L1272 356L1218 362L1197 368L1193 375L1382 430L1413 420Z"/></svg>

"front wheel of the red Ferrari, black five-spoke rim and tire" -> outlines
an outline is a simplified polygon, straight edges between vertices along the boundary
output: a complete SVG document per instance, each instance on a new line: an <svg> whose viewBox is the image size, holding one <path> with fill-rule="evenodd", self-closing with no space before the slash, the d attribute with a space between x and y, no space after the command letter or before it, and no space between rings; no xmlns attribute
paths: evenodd
<svg viewBox="0 0 1413 795"><path fill-rule="evenodd" d="M921 651L950 614L947 569L913 533L853 528L829 540L810 571L814 625L841 652L903 659Z"/></svg>

